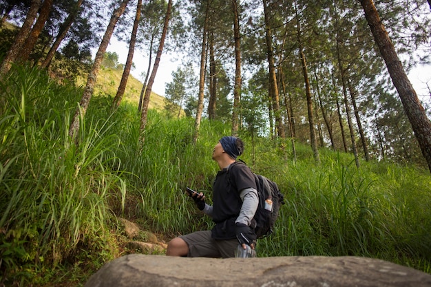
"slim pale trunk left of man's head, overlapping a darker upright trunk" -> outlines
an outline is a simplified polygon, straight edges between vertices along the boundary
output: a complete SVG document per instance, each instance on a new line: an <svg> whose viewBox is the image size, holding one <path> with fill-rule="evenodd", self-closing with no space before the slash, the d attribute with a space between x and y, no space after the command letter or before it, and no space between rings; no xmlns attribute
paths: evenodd
<svg viewBox="0 0 431 287"><path fill-rule="evenodd" d="M199 95L198 109L196 111L195 129L193 131L193 144L198 140L200 120L204 109L204 87L205 87L205 71L207 70L207 34L209 23L209 0L207 0L207 10L205 12L204 28L202 31L202 50L200 52L200 72L199 72Z"/></svg>

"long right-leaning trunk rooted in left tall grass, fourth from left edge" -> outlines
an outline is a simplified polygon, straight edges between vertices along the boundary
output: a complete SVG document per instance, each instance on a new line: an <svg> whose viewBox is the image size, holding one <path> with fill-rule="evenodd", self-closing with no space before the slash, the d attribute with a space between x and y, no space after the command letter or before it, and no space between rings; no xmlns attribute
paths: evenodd
<svg viewBox="0 0 431 287"><path fill-rule="evenodd" d="M76 109L76 112L72 119L72 123L70 124L69 136L74 140L78 135L80 118L84 118L85 113L87 112L87 108L90 105L94 85L96 84L98 70L100 69L103 60L103 55L105 54L112 33L114 33L114 28L118 21L118 18L120 18L121 14L123 14L125 8L127 7L127 3L129 3L129 0L123 0L123 2L121 2L120 4L120 7L114 10L109 24L107 25L105 35L103 35L101 45L98 47L92 70L90 71L90 74L88 74L87 85L85 85L83 97L79 102L79 107L78 109Z"/></svg>

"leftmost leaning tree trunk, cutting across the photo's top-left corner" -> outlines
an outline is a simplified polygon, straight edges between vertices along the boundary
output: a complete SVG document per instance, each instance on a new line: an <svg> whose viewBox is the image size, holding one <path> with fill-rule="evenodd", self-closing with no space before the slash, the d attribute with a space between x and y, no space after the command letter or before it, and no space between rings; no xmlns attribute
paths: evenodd
<svg viewBox="0 0 431 287"><path fill-rule="evenodd" d="M17 36L15 36L14 43L10 47L8 54L6 54L5 59L3 59L3 62L1 63L0 78L9 72L12 63L17 60L19 50L21 50L25 39L27 39L28 35L30 34L30 30L32 29L34 19L36 19L39 6L41 6L41 0L32 0L27 17L25 18L25 21L21 26Z"/></svg>

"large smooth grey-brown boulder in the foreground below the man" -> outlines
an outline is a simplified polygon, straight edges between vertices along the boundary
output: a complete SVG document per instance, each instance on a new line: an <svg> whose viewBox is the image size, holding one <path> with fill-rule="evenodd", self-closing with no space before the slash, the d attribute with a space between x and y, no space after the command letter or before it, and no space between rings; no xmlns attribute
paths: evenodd
<svg viewBox="0 0 431 287"><path fill-rule="evenodd" d="M364 257L184 258L127 255L109 262L84 287L431 286L431 275Z"/></svg>

